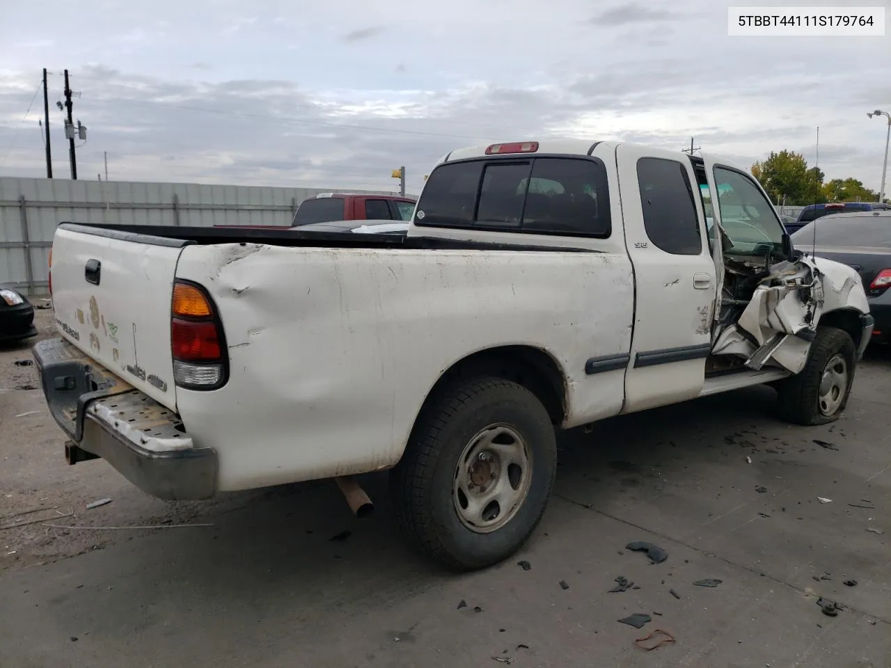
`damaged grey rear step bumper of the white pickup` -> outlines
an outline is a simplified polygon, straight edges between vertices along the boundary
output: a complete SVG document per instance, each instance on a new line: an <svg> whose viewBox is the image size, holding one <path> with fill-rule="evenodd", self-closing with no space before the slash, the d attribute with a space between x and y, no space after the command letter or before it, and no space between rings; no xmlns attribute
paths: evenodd
<svg viewBox="0 0 891 668"><path fill-rule="evenodd" d="M70 439L70 463L101 457L159 499L214 496L217 452L196 447L175 412L61 338L40 341L33 350L46 403Z"/></svg>

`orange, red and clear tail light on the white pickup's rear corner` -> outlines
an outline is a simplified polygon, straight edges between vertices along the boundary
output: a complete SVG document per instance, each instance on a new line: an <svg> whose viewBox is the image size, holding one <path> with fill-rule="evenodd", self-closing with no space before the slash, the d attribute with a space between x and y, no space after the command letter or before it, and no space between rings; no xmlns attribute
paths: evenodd
<svg viewBox="0 0 891 668"><path fill-rule="evenodd" d="M229 373L223 325L200 285L176 281L170 306L170 348L178 387L208 390L225 385Z"/></svg>

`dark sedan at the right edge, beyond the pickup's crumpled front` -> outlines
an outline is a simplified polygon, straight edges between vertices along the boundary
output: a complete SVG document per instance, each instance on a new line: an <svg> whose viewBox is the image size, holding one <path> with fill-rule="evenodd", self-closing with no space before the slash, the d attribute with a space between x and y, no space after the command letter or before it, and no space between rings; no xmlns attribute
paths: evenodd
<svg viewBox="0 0 891 668"><path fill-rule="evenodd" d="M792 243L810 254L813 235L814 230L808 225L792 235ZM891 211L822 217L816 224L815 255L854 267L876 321L872 340L891 340Z"/></svg>

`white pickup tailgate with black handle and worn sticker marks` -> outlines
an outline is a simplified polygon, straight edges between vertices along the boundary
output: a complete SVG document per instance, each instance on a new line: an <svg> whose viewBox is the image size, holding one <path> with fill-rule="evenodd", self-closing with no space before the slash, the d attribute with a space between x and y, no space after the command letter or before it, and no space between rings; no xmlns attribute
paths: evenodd
<svg viewBox="0 0 891 668"><path fill-rule="evenodd" d="M171 410L170 299L187 243L76 224L61 224L53 239L56 329Z"/></svg>

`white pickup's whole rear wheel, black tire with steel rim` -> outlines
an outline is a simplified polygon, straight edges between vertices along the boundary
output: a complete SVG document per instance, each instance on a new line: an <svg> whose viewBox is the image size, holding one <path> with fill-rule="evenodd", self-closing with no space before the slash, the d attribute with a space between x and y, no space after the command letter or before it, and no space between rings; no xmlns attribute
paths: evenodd
<svg viewBox="0 0 891 668"><path fill-rule="evenodd" d="M391 472L396 520L446 566L491 566L535 530L556 470L553 425L526 387L457 383L431 397Z"/></svg>

